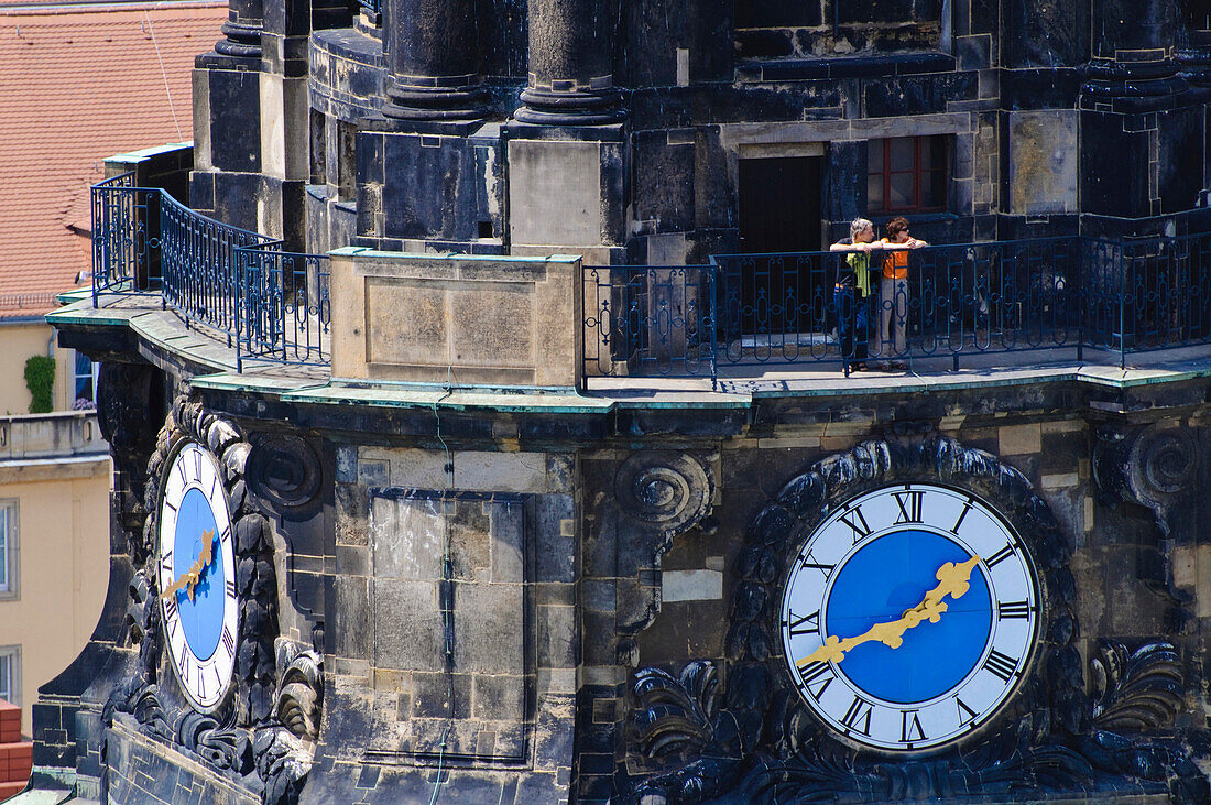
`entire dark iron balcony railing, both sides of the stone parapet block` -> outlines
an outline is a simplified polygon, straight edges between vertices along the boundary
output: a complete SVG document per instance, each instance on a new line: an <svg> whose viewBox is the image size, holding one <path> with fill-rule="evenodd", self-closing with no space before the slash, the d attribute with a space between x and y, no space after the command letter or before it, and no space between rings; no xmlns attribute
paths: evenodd
<svg viewBox="0 0 1211 805"><path fill-rule="evenodd" d="M327 363L325 255L200 215L114 177L93 186L93 304L157 293L245 361ZM893 254L907 277L882 278ZM863 263L865 260L865 263ZM868 288L869 294L857 293ZM902 335L897 333L902 330ZM1133 352L1211 341L1211 236L1087 237L906 252L740 254L585 269L586 375L718 376L721 366L1026 350Z"/></svg>

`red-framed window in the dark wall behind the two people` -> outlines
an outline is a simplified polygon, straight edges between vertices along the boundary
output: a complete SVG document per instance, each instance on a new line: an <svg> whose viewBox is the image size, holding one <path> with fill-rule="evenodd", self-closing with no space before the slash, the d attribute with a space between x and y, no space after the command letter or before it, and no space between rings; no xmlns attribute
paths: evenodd
<svg viewBox="0 0 1211 805"><path fill-rule="evenodd" d="M947 137L895 137L867 143L866 208L871 214L946 208Z"/></svg>

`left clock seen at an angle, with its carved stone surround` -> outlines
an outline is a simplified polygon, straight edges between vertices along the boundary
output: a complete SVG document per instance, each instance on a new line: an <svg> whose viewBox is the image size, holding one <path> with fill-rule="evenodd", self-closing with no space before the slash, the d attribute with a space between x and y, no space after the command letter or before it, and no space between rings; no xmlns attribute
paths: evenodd
<svg viewBox="0 0 1211 805"><path fill-rule="evenodd" d="M197 403L178 399L168 414L147 461L149 514L131 540L139 667L103 721L133 717L263 801L289 803L317 738L322 629L314 645L279 633L271 527L246 483L251 453L234 422Z"/></svg>

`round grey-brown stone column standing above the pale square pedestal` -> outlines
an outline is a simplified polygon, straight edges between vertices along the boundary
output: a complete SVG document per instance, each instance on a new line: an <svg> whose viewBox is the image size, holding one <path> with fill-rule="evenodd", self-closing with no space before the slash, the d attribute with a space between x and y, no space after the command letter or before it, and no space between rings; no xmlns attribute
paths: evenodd
<svg viewBox="0 0 1211 805"><path fill-rule="evenodd" d="M625 117L614 88L610 0L529 1L529 85L516 119L599 126Z"/></svg>

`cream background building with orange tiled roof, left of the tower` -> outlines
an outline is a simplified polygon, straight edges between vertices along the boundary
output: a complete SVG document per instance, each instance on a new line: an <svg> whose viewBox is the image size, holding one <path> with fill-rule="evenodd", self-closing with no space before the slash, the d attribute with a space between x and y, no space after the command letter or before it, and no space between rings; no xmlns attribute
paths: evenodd
<svg viewBox="0 0 1211 805"><path fill-rule="evenodd" d="M59 349L44 316L90 284L88 185L103 157L190 137L193 56L224 16L214 4L0 5L0 698L22 707L27 731L38 688L80 652L109 583L96 367ZM28 414L31 356L54 360L57 413Z"/></svg>

